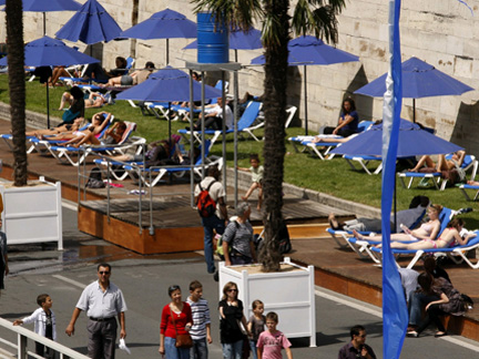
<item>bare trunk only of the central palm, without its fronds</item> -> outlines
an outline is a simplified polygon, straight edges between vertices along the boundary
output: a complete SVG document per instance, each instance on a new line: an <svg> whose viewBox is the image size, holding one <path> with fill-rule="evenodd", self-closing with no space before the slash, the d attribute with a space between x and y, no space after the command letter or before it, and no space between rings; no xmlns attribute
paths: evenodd
<svg viewBox="0 0 479 359"><path fill-rule="evenodd" d="M282 255L278 250L278 234L283 225L283 170L286 122L286 89L287 89L287 43L289 40L289 22L287 11L288 0L271 0L265 4L265 11L275 14L278 20L278 42L265 47L265 142L264 156L264 225L265 245L259 254L263 270L279 269Z"/></svg>

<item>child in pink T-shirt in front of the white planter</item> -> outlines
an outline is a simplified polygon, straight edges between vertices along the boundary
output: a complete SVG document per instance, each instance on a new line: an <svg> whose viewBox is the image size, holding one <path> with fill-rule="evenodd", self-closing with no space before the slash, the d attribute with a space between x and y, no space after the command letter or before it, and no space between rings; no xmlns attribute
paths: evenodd
<svg viewBox="0 0 479 359"><path fill-rule="evenodd" d="M276 329L278 316L274 311L266 315L267 330L259 335L257 342L258 359L282 359L282 349L284 348L286 357L293 359L293 353L289 349L291 342L285 335Z"/></svg>

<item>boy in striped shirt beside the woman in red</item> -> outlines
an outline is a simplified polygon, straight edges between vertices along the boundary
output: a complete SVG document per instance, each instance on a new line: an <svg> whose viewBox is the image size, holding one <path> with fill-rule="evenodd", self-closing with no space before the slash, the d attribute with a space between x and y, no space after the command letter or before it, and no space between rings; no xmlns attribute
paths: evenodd
<svg viewBox="0 0 479 359"><path fill-rule="evenodd" d="M190 335L193 339L193 347L190 349L190 359L207 359L207 343L212 343L211 319L207 300L202 298L203 285L198 280L190 284L190 297L186 301L192 309L193 326Z"/></svg>

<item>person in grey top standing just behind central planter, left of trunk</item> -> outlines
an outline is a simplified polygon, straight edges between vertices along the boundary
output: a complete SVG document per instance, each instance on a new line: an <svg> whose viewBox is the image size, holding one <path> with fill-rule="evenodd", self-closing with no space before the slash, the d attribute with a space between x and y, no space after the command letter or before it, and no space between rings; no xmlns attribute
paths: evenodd
<svg viewBox="0 0 479 359"><path fill-rule="evenodd" d="M226 266L256 261L249 205L246 202L240 203L236 215L237 217L230 222L223 235L222 246Z"/></svg>

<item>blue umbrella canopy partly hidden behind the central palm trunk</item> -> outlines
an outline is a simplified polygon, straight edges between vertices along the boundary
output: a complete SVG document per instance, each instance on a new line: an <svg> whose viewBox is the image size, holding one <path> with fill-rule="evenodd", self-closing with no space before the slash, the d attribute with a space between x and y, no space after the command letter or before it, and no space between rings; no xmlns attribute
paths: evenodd
<svg viewBox="0 0 479 359"><path fill-rule="evenodd" d="M349 52L329 47L315 37L299 37L288 43L288 64L297 65L329 65L334 63L359 61L359 58ZM265 57L252 60L252 64L264 64Z"/></svg>

